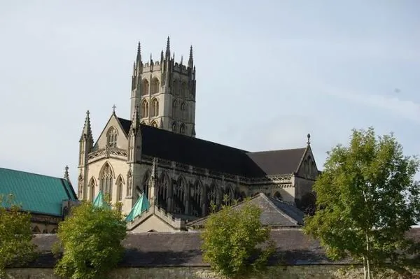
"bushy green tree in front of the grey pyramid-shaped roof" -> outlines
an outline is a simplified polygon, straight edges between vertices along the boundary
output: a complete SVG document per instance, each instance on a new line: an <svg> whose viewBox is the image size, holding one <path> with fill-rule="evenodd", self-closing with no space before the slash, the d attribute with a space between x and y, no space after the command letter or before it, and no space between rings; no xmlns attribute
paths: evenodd
<svg viewBox="0 0 420 279"><path fill-rule="evenodd" d="M261 210L248 201L241 209L222 206L209 215L202 232L204 262L222 276L243 278L265 268L274 252L269 228L262 228Z"/></svg>

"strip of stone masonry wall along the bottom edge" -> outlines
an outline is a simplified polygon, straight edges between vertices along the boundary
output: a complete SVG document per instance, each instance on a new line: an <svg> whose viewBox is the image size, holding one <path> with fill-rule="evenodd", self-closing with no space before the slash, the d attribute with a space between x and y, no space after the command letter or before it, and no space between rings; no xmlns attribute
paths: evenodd
<svg viewBox="0 0 420 279"><path fill-rule="evenodd" d="M356 279L363 278L363 269L348 270L349 266L343 265L314 265L314 266L272 266L260 279ZM54 276L52 269L8 269L8 279L59 279ZM130 268L117 269L110 278L112 279L217 279L209 268L204 267L159 267L159 268ZM255 278L255 277L253 277ZM252 279L253 279L252 278ZM386 278L402 278L388 275ZM414 273L414 277L420 278L420 271ZM251 279L251 278L249 278ZM256 278L255 278L256 279Z"/></svg>

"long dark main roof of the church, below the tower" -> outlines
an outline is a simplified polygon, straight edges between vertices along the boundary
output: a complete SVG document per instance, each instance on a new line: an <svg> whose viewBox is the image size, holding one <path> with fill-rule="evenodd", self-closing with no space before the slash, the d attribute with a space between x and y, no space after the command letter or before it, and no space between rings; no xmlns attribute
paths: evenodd
<svg viewBox="0 0 420 279"><path fill-rule="evenodd" d="M118 120L128 134L131 121L120 117ZM141 124L140 129L145 155L254 178L297 171L306 150L248 152L145 124Z"/></svg>

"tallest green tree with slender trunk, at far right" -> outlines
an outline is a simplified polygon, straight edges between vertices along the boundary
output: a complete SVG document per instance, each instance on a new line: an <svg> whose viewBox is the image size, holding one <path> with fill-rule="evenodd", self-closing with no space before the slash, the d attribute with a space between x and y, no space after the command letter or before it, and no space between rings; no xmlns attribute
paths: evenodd
<svg viewBox="0 0 420 279"><path fill-rule="evenodd" d="M393 134L353 130L349 147L328 152L314 184L316 213L304 232L318 239L331 259L363 262L365 278L375 271L406 271L414 243L405 233L419 221L416 157L406 157Z"/></svg>

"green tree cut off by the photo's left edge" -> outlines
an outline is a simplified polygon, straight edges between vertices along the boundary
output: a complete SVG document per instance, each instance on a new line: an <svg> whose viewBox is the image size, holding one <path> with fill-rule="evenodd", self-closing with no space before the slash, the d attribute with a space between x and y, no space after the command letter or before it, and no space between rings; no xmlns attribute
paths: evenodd
<svg viewBox="0 0 420 279"><path fill-rule="evenodd" d="M25 264L36 257L31 243L30 213L21 211L13 195L0 195L0 277L6 266Z"/></svg>

